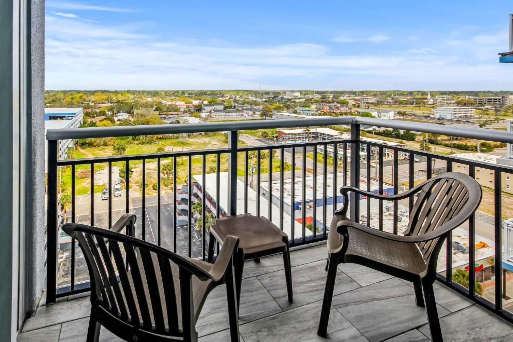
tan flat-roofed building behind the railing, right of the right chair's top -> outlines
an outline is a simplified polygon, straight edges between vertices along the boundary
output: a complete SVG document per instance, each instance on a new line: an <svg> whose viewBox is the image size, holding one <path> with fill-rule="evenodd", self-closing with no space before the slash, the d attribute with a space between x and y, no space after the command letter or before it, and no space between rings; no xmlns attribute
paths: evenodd
<svg viewBox="0 0 513 342"><path fill-rule="evenodd" d="M489 154L489 153L456 153L451 155L451 157L455 158L462 158L462 159L468 159L473 160L476 162L481 163L489 163L489 164L503 164L501 163L501 157L495 154ZM468 165L466 164L460 164L453 162L452 163L452 170L468 173ZM513 194L513 174L509 174L506 172L501 172L501 186L502 191ZM476 167L475 168L475 178L477 182L487 188L494 189L495 188L495 172L494 170L485 169Z"/></svg>

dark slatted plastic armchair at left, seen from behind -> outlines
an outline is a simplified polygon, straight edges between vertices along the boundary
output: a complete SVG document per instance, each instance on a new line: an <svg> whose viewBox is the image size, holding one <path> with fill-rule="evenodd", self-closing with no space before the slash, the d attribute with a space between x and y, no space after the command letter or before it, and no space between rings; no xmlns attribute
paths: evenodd
<svg viewBox="0 0 513 342"><path fill-rule="evenodd" d="M115 225L122 229L123 224ZM239 341L233 270L239 238L227 236L219 257L209 264L112 230L74 223L63 230L78 241L89 269L88 341L98 340L101 325L130 341L196 341L196 320L205 299L222 284L231 340Z"/></svg>

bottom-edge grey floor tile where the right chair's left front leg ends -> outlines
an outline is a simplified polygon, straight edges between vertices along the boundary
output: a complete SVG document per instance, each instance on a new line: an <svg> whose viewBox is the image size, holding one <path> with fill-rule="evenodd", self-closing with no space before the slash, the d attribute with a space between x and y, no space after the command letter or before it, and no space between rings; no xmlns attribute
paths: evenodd
<svg viewBox="0 0 513 342"><path fill-rule="evenodd" d="M259 319L240 327L246 342L367 341L337 310L332 309L327 339L317 335L320 301Z"/></svg>

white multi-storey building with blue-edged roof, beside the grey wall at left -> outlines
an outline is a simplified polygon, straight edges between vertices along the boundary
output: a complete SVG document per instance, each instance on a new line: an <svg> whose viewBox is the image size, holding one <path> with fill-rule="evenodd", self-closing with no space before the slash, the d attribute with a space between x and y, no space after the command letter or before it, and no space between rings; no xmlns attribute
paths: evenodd
<svg viewBox="0 0 513 342"><path fill-rule="evenodd" d="M49 129L78 128L84 117L82 108L46 108L45 136ZM68 149L74 146L73 139L59 140L57 159L66 159ZM45 139L45 157L48 158L48 143ZM45 166L46 167L46 166Z"/></svg>

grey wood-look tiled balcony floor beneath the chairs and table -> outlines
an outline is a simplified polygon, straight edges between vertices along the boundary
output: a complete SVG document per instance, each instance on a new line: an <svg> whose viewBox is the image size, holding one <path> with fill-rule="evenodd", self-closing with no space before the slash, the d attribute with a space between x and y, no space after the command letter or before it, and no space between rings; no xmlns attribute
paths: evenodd
<svg viewBox="0 0 513 342"><path fill-rule="evenodd" d="M242 283L240 332L245 342L318 340L326 272L326 246L291 251L294 303L289 304L280 255L246 261ZM508 340L513 326L456 292L435 283L442 334L448 341ZM84 297L84 295L86 295ZM82 296L82 297L81 297ZM45 296L43 296L45 298ZM18 341L85 340L88 294L62 298L37 309ZM415 304L410 283L354 264L339 265L327 340L429 341L424 308ZM226 290L214 289L196 324L200 341L229 340ZM119 341L102 327L100 340Z"/></svg>

